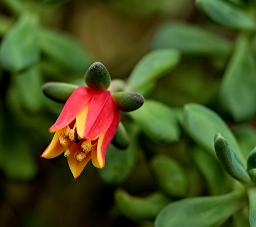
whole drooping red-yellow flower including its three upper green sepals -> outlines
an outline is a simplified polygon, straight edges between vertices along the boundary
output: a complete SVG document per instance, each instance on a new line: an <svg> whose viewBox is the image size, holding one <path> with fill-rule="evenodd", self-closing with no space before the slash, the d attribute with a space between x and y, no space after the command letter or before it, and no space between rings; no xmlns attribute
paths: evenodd
<svg viewBox="0 0 256 227"><path fill-rule="evenodd" d="M144 98L137 93L106 91L110 85L108 70L95 62L85 73L88 87L78 87L67 99L57 121L49 132L51 143L41 157L54 158L64 152L76 179L92 159L92 164L104 168L107 148L120 122L121 111L139 108ZM43 91L53 100L64 101L74 85L46 83Z"/></svg>

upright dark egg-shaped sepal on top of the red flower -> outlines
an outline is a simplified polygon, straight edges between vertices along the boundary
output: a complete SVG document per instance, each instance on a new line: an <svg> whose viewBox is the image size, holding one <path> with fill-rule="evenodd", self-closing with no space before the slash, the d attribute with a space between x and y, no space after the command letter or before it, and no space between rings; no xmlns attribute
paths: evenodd
<svg viewBox="0 0 256 227"><path fill-rule="evenodd" d="M110 75L105 66L100 62L94 62L84 75L85 83L93 90L107 90L110 86Z"/></svg>

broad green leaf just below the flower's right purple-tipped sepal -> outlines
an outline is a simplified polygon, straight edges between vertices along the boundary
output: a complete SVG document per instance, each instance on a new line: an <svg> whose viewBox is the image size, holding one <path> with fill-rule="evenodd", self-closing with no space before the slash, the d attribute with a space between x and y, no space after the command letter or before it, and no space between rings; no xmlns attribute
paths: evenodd
<svg viewBox="0 0 256 227"><path fill-rule="evenodd" d="M181 127L175 112L167 105L147 99L138 110L127 113L152 140L162 143L178 142Z"/></svg>

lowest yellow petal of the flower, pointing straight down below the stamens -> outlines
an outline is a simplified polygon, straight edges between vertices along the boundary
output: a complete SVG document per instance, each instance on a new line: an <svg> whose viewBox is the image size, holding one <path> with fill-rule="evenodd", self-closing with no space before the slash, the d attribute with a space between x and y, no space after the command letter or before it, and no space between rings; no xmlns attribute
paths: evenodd
<svg viewBox="0 0 256 227"><path fill-rule="evenodd" d="M84 167L90 161L91 159L91 152L86 154L86 157L82 161L77 161L76 158L74 158L74 154L76 151L82 152L81 148L82 141L79 142L78 144L73 143L70 147L71 154L67 157L68 163L69 163L69 168L74 176L74 178L78 178L79 175L82 173Z"/></svg>

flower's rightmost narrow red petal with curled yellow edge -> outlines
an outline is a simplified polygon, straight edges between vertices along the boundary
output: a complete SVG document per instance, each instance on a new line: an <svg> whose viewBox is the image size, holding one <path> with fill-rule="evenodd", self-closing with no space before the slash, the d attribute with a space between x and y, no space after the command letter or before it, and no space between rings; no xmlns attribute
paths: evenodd
<svg viewBox="0 0 256 227"><path fill-rule="evenodd" d="M113 139L117 127L120 122L120 113L118 110L115 111L115 117L110 127L104 132L101 136L99 136L97 150L92 150L92 164L97 168L104 168L105 166L105 156L108 146Z"/></svg>

